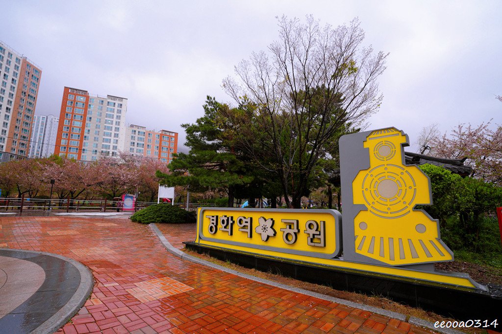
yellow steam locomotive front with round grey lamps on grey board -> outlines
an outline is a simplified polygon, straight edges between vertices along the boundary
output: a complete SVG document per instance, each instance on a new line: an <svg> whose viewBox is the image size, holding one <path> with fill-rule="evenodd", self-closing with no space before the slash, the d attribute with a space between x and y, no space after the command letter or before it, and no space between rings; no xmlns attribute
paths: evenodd
<svg viewBox="0 0 502 334"><path fill-rule="evenodd" d="M353 203L367 207L353 222L355 252L390 265L452 260L437 220L413 210L431 203L430 183L418 167L404 164L406 141L395 128L373 131L364 141L370 167L352 182Z"/></svg>

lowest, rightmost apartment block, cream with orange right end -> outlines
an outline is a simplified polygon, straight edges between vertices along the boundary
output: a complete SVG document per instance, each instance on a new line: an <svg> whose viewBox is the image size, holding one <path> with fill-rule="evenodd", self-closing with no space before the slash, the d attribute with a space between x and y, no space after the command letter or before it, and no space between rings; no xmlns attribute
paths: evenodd
<svg viewBox="0 0 502 334"><path fill-rule="evenodd" d="M167 130L156 132L131 124L127 129L124 151L169 163L173 160L173 153L178 151L178 133Z"/></svg>

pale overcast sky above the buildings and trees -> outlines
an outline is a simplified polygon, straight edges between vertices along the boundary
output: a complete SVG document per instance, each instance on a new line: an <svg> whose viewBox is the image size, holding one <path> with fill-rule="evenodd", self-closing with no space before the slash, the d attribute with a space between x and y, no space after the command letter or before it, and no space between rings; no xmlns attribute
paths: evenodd
<svg viewBox="0 0 502 334"><path fill-rule="evenodd" d="M367 130L501 122L502 2L0 1L0 40L42 67L37 115L59 115L64 86L129 99L127 123L185 134L207 95L278 38L276 16L321 25L354 17L365 45L390 53L384 101Z"/></svg>

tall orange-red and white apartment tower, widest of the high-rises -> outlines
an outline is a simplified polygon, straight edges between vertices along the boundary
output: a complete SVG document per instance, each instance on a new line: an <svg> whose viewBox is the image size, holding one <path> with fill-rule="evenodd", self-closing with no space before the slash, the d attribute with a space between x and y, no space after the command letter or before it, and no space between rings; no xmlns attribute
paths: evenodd
<svg viewBox="0 0 502 334"><path fill-rule="evenodd" d="M124 147L127 102L65 87L54 154L84 161L117 156Z"/></svg>

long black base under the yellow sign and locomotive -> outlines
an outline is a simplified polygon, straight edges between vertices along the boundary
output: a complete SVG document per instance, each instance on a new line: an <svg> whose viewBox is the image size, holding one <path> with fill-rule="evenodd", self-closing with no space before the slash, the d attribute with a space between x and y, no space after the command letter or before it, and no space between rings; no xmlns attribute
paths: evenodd
<svg viewBox="0 0 502 334"><path fill-rule="evenodd" d="M502 321L502 298L477 291L465 291L444 285L426 285L419 281L382 277L372 273L354 272L333 267L289 262L250 253L233 252L184 242L188 249L208 254L222 261L231 261L246 268L278 273L306 282L330 286L337 290L382 296L413 307L452 317L457 320L480 319L488 323ZM484 324L484 323L483 323Z"/></svg>

